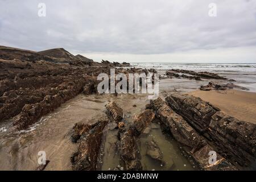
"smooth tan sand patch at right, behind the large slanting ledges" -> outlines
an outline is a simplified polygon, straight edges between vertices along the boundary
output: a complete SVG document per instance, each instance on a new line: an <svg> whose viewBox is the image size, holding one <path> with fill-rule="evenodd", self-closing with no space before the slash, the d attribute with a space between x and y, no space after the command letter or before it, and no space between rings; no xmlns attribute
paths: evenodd
<svg viewBox="0 0 256 182"><path fill-rule="evenodd" d="M210 102L232 117L256 123L256 93L232 89L218 92L196 90L188 94Z"/></svg>

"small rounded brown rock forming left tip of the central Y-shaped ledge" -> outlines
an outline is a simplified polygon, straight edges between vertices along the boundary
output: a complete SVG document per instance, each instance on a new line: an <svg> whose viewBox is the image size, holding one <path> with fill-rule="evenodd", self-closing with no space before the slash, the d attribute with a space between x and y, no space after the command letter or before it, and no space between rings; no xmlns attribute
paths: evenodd
<svg viewBox="0 0 256 182"><path fill-rule="evenodd" d="M106 111L109 118L117 124L123 119L123 109L119 107L115 102L109 102L106 104Z"/></svg>

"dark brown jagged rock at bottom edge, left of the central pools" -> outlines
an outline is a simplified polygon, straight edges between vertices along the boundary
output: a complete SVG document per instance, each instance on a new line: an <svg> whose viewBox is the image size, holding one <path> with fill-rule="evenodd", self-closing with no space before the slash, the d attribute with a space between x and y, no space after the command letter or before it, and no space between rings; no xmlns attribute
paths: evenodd
<svg viewBox="0 0 256 182"><path fill-rule="evenodd" d="M97 169L98 152L101 146L102 131L108 121L98 121L94 125L76 124L72 141L78 141L77 152L71 156L72 169L75 171L94 171ZM75 139L75 140L74 140Z"/></svg>

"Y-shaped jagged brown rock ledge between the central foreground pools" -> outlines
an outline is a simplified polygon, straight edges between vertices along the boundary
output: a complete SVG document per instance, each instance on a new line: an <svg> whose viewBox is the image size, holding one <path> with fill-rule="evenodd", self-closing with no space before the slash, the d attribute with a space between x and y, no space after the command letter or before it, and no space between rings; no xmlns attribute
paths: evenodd
<svg viewBox="0 0 256 182"><path fill-rule="evenodd" d="M123 110L115 102L109 102L106 105L107 114L110 121L118 123L118 144L120 158L122 160L123 166L126 170L142 170L142 164L139 160L140 154L138 152L138 147L136 139L141 135L146 129L146 127L155 118L155 114L147 109L141 114L134 117L133 123L127 123L122 121Z"/></svg>

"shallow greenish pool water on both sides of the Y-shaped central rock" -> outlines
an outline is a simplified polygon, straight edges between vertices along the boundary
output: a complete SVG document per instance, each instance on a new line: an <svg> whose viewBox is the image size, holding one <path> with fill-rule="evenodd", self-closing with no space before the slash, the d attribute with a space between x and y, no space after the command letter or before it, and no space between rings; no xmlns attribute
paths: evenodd
<svg viewBox="0 0 256 182"><path fill-rule="evenodd" d="M130 122L129 122L130 123ZM117 146L118 129L112 128L112 123L106 126L104 139L99 153L98 169L107 171L123 169ZM162 160L152 159L147 155L148 143L153 141L162 154ZM196 170L189 160L181 154L177 142L167 134L162 133L158 123L151 123L137 139L138 152L141 155L143 170Z"/></svg>

